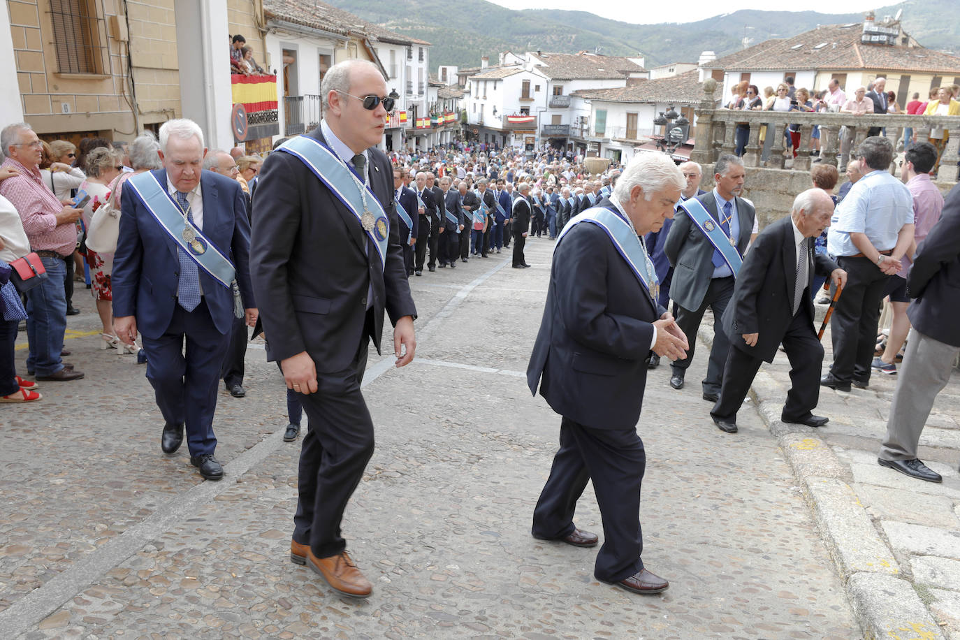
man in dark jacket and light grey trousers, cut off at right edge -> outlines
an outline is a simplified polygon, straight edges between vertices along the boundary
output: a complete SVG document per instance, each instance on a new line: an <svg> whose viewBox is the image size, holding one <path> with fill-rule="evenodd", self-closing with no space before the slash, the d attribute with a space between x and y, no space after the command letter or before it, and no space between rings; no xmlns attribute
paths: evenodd
<svg viewBox="0 0 960 640"><path fill-rule="evenodd" d="M940 221L917 247L906 284L916 298L906 311L913 330L876 462L939 483L940 474L917 458L917 445L933 401L947 386L960 353L960 187L950 190Z"/></svg>

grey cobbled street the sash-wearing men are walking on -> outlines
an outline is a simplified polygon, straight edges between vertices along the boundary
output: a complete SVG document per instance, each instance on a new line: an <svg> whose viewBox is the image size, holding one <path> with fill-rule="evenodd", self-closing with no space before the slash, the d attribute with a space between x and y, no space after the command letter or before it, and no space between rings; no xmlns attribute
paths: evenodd
<svg viewBox="0 0 960 640"><path fill-rule="evenodd" d="M735 438L712 428L669 367L638 430L643 557L670 588L600 583L595 550L530 536L560 424L523 377L552 248L528 242L533 269L501 253L411 279L417 359L373 353L365 378L378 442L344 523L374 584L362 602L288 559L300 446L262 345L247 397L221 392L226 477L203 482L160 452L144 367L95 349L78 290L67 342L86 378L0 408L0 638L861 637L778 439L752 411ZM603 535L589 489L576 522Z"/></svg>

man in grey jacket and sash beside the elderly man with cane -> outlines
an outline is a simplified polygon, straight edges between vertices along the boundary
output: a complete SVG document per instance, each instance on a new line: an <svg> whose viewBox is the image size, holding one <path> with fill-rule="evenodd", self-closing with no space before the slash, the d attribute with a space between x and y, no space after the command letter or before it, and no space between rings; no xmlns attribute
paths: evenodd
<svg viewBox="0 0 960 640"><path fill-rule="evenodd" d="M750 232L756 218L753 204L740 198L746 176L743 160L733 154L721 155L714 172L716 186L708 194L698 196L697 200L703 203L713 224L719 225L725 235L733 239L733 246L742 256L750 244ZM676 303L674 311L677 314L677 324L684 334L695 337L704 312L708 307L713 310L713 346L710 348L703 388L704 399L716 402L723 380L723 367L727 362L727 351L730 350L730 342L720 319L723 318L723 312L733 296L732 269L683 209L677 213L673 226L670 227L663 252L673 265L670 292ZM670 386L674 389L684 388L684 375L693 361L696 342L691 338L686 358L672 365Z"/></svg>

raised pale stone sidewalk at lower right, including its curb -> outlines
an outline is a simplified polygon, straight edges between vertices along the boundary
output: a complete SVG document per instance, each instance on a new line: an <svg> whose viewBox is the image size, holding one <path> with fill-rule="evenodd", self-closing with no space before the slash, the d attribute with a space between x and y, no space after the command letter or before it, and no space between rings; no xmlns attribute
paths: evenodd
<svg viewBox="0 0 960 640"><path fill-rule="evenodd" d="M819 330L827 305L818 307ZM699 337L712 344L709 313ZM822 342L826 373L829 327ZM871 638L960 638L960 373L920 439L920 459L944 478L934 484L876 462L896 375L874 370L867 389L851 392L822 387L814 413L830 421L811 429L780 422L789 370L780 351L760 368L751 399L803 488L861 628Z"/></svg>

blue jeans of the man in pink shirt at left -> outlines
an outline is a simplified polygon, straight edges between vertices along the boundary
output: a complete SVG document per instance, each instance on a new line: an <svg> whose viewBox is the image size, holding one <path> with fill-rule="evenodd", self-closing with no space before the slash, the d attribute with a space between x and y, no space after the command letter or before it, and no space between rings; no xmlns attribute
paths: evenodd
<svg viewBox="0 0 960 640"><path fill-rule="evenodd" d="M66 295L63 258L40 258L47 270L47 279L27 292L27 340L30 355L27 369L36 375L53 375L63 364L63 333L66 331Z"/></svg>

